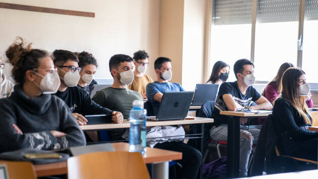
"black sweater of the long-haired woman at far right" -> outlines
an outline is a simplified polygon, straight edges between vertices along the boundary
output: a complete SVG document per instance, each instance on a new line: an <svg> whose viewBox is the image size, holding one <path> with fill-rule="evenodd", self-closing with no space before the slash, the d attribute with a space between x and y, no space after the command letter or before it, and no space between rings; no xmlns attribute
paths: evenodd
<svg viewBox="0 0 318 179"><path fill-rule="evenodd" d="M317 138L318 133L309 131L297 110L284 98L278 98L273 108L274 126L278 135L284 133L295 140Z"/></svg>

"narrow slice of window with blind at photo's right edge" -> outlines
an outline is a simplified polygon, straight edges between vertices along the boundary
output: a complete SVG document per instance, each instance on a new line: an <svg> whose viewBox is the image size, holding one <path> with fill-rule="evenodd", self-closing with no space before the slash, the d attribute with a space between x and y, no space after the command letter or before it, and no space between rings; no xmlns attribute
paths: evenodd
<svg viewBox="0 0 318 179"><path fill-rule="evenodd" d="M303 32L302 69L307 82L318 83L318 1L306 2L306 21Z"/></svg>

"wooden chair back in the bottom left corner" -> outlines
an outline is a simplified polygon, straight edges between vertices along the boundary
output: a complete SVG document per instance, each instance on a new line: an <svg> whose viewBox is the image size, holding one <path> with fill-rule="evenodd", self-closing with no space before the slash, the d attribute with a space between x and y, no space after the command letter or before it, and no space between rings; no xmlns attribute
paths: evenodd
<svg viewBox="0 0 318 179"><path fill-rule="evenodd" d="M34 166L31 162L13 162L0 160L0 166L6 165L7 178L35 179L37 178ZM1 168L1 167L0 167Z"/></svg>

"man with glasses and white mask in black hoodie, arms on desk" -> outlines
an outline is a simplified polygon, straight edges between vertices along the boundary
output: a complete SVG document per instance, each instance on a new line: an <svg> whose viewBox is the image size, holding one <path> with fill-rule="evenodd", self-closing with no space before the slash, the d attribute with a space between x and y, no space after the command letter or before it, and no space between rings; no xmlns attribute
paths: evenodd
<svg viewBox="0 0 318 179"><path fill-rule="evenodd" d="M86 125L85 115L106 114L112 116L112 121L122 123L123 114L118 111L111 111L101 107L90 99L90 96L77 87L80 79L79 72L82 68L78 67L77 56L70 51L55 50L53 52L54 64L58 67L61 78L59 91L54 94L61 98L70 108L73 116L80 125ZM86 132L93 141L98 141L97 132Z"/></svg>

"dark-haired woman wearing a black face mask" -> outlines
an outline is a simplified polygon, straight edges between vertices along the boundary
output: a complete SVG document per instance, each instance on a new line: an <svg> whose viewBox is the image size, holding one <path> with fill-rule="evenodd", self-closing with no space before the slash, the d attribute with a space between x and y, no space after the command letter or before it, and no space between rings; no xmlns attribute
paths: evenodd
<svg viewBox="0 0 318 179"><path fill-rule="evenodd" d="M206 81L208 84L222 84L229 77L230 66L223 62L217 61L212 69L210 78Z"/></svg>

